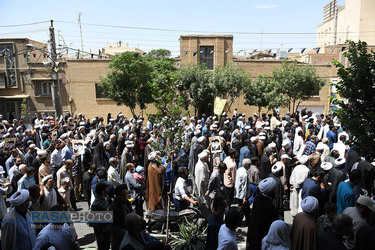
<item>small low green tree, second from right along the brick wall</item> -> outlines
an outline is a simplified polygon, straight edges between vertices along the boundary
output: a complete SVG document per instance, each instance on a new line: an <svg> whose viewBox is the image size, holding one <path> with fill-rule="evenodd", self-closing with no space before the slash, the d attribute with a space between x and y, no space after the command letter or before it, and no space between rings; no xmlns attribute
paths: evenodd
<svg viewBox="0 0 375 250"><path fill-rule="evenodd" d="M267 107L267 112L285 103L285 97L278 93L275 81L268 75L258 76L254 83L244 86L245 105L257 106L258 114Z"/></svg>

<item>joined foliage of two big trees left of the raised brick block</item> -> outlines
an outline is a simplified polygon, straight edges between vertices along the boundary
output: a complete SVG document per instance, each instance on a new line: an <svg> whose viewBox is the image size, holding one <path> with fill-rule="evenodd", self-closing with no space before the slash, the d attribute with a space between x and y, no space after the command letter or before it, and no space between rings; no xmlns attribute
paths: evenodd
<svg viewBox="0 0 375 250"><path fill-rule="evenodd" d="M129 107L133 115L137 105L144 109L149 103L164 112L177 81L175 60L170 55L165 49L152 50L145 56L121 53L109 63L111 72L101 79L104 94L117 105Z"/></svg>

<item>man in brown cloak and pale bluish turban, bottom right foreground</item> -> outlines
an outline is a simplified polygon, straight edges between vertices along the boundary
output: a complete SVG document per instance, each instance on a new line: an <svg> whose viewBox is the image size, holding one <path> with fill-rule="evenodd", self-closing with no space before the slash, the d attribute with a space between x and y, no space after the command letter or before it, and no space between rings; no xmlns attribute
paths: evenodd
<svg viewBox="0 0 375 250"><path fill-rule="evenodd" d="M307 196L301 202L303 212L293 220L291 231L292 248L315 250L317 247L317 228L314 214L318 211L319 202L313 196Z"/></svg>

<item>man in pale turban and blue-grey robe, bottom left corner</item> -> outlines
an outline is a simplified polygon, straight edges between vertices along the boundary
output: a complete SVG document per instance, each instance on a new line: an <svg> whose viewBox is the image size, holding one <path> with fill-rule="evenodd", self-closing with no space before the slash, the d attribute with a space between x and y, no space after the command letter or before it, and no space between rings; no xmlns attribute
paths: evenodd
<svg viewBox="0 0 375 250"><path fill-rule="evenodd" d="M21 189L10 197L11 209L1 225L2 249L32 249L35 244L35 229L28 211L29 191Z"/></svg>

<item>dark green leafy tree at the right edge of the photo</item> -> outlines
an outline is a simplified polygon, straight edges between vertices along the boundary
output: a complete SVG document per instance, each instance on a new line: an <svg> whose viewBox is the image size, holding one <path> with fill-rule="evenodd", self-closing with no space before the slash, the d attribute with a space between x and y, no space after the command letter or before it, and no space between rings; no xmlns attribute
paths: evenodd
<svg viewBox="0 0 375 250"><path fill-rule="evenodd" d="M336 84L337 92L344 98L333 100L341 107L335 112L353 135L351 143L356 145L356 150L363 156L374 155L375 52L369 52L365 42L347 43L350 47L344 55L350 66L334 61L341 78Z"/></svg>

